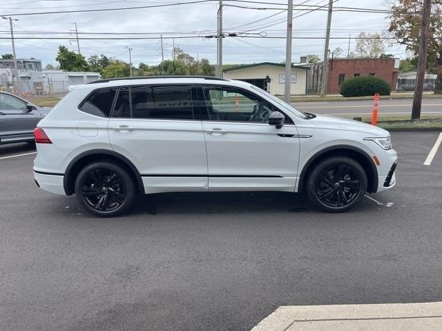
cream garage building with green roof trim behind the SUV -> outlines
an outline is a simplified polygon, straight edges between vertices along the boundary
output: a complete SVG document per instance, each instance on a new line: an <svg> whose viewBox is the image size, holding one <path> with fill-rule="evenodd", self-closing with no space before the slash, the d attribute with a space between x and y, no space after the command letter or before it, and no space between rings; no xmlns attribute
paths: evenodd
<svg viewBox="0 0 442 331"><path fill-rule="evenodd" d="M291 66L291 94L306 94L307 66ZM285 64L253 63L224 69L224 78L247 81L273 95L283 95L285 85Z"/></svg>

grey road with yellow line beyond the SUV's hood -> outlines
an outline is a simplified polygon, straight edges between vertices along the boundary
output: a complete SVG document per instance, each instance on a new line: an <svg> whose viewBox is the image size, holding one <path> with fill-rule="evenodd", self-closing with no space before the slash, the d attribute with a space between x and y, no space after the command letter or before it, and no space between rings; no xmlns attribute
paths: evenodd
<svg viewBox="0 0 442 331"><path fill-rule="evenodd" d="M291 103L302 112L318 114L363 116L372 113L373 101L311 101ZM442 99L424 99L422 114L442 115ZM412 99L390 99L379 101L379 115L411 115Z"/></svg>

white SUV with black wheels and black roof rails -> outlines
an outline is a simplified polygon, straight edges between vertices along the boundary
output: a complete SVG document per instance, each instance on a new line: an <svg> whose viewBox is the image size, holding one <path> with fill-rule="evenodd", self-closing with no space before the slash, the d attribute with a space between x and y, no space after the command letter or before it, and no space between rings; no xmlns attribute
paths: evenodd
<svg viewBox="0 0 442 331"><path fill-rule="evenodd" d="M390 134L302 113L242 81L108 79L77 86L35 129L35 181L98 216L137 194L305 191L329 212L395 183Z"/></svg>

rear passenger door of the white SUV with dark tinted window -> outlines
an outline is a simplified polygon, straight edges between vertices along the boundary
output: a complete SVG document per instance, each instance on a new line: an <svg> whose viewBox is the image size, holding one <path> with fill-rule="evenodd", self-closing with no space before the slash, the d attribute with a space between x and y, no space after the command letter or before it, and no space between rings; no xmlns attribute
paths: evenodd
<svg viewBox="0 0 442 331"><path fill-rule="evenodd" d="M146 193L207 190L206 145L192 94L187 85L119 90L109 137L142 174Z"/></svg>

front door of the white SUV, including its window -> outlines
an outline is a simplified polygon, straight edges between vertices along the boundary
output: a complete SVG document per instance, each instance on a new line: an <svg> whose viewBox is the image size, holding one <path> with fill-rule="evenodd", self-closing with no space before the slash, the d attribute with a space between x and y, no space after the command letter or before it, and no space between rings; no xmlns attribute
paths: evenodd
<svg viewBox="0 0 442 331"><path fill-rule="evenodd" d="M202 89L209 190L293 192L300 144L293 121L286 115L282 128L270 126L269 115L276 108L247 90Z"/></svg>

